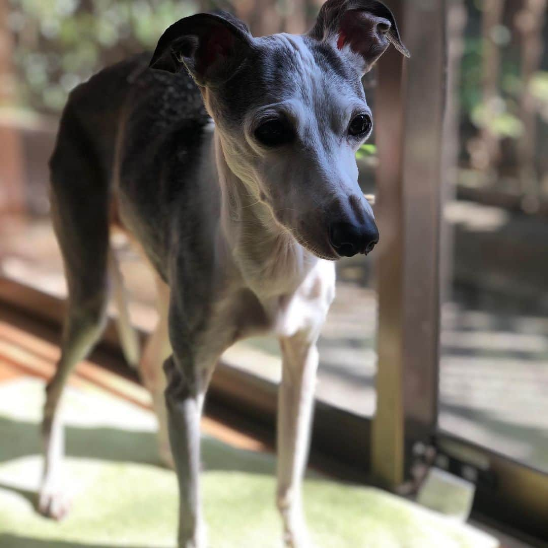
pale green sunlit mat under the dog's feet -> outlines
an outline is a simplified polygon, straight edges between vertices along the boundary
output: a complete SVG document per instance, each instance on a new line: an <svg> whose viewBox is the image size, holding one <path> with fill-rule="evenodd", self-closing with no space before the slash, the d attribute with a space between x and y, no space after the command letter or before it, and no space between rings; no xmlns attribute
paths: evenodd
<svg viewBox="0 0 548 548"><path fill-rule="evenodd" d="M66 392L70 515L34 510L43 383L0 385L0 548L174 546L174 473L159 466L155 418L100 390ZM203 440L203 499L212 548L279 547L274 459ZM373 488L310 477L306 515L319 548L494 548L489 536Z"/></svg>

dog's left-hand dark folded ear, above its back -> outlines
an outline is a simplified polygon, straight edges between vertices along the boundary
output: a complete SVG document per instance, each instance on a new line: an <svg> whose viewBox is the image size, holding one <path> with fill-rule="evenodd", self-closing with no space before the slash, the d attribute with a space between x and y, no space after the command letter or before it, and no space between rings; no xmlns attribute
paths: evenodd
<svg viewBox="0 0 548 548"><path fill-rule="evenodd" d="M156 46L150 67L179 72L184 67L202 87L226 81L251 53L246 25L226 13L199 13L170 26Z"/></svg>

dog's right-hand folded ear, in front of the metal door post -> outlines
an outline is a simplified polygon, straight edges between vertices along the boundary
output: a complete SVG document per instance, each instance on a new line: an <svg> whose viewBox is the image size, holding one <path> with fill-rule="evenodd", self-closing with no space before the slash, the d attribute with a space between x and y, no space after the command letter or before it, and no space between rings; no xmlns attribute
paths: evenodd
<svg viewBox="0 0 548 548"><path fill-rule="evenodd" d="M308 34L332 42L362 73L371 70L390 44L409 57L392 12L375 0L327 0Z"/></svg>

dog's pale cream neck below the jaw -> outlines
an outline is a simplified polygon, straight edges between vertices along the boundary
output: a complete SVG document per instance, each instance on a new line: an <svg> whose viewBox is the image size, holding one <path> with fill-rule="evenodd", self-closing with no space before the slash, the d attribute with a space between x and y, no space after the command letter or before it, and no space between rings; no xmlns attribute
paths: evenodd
<svg viewBox="0 0 548 548"><path fill-rule="evenodd" d="M269 298L294 292L319 259L274 219L250 184L230 169L216 129L214 141L221 192L220 237L256 293Z"/></svg>

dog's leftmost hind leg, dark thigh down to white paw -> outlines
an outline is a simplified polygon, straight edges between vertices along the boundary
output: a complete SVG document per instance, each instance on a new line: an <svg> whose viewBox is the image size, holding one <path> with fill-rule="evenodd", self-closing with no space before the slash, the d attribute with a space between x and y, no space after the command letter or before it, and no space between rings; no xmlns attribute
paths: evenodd
<svg viewBox="0 0 548 548"><path fill-rule="evenodd" d="M68 126L68 128L67 128ZM68 511L62 486L64 432L60 399L66 380L101 336L107 301L108 192L89 150L63 125L52 169L52 216L68 287L61 356L46 387L42 424L44 472L38 510L60 519ZM67 132L65 135L64 132Z"/></svg>

